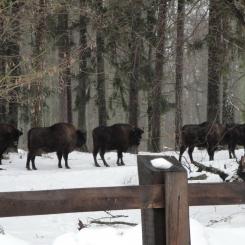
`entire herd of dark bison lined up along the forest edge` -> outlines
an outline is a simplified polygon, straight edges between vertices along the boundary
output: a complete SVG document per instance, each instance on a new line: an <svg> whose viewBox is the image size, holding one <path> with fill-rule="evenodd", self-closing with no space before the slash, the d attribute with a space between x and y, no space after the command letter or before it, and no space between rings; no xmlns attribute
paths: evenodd
<svg viewBox="0 0 245 245"><path fill-rule="evenodd" d="M97 154L106 167L105 152L117 151L117 165L125 165L123 152L132 146L140 144L144 131L130 124L114 124L112 126L99 126L93 132L93 158L96 167ZM0 124L0 164L3 153L8 148L16 148L22 132L10 124ZM35 157L42 153L56 152L58 167L62 168L62 157L65 167L68 165L68 154L86 143L86 133L76 129L69 123L56 123L51 127L37 127L28 131L28 154L26 168L36 170ZM209 159L214 160L214 152L219 146L228 146L229 157L236 158L235 148L242 145L245 148L245 124L219 124L215 122L203 122L201 124L189 124L182 127L179 161L185 150L191 162L194 162L192 153L195 147L207 149ZM31 167L30 167L31 163Z"/></svg>

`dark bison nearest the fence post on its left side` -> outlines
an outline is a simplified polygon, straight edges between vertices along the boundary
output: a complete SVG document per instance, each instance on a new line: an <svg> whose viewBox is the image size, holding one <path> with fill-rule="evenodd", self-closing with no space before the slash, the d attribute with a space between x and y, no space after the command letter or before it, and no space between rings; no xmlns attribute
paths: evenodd
<svg viewBox="0 0 245 245"><path fill-rule="evenodd" d="M144 131L130 124L114 124L112 126L99 126L93 130L93 157L96 167L100 167L96 156L100 152L101 159L106 167L106 151L117 150L117 165L125 165L123 152L131 146L138 146Z"/></svg>

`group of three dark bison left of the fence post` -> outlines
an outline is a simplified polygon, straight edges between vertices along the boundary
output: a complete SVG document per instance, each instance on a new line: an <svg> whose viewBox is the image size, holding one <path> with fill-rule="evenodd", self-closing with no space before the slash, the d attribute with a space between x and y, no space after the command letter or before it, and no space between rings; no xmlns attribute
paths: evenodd
<svg viewBox="0 0 245 245"><path fill-rule="evenodd" d="M104 154L106 151L116 150L118 154L117 165L124 165L123 152L131 146L138 146L141 141L143 130L130 124L114 124L112 126L99 126L93 130L93 156L95 166L100 167L96 156L100 153L105 166ZM0 124L0 164L3 153L15 147L19 137L23 133L10 124ZM27 170L37 170L35 157L42 153L56 152L58 167L62 168L62 157L65 167L68 165L68 154L86 143L86 133L76 129L70 123L56 123L51 127L36 127L28 131L27 137ZM30 167L31 163L31 167Z"/></svg>

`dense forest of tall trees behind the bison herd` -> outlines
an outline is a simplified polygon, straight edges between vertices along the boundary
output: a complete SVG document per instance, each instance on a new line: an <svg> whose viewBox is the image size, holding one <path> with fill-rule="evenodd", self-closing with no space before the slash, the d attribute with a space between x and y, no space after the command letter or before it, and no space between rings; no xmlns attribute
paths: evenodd
<svg viewBox="0 0 245 245"><path fill-rule="evenodd" d="M0 0L0 122L130 123L140 149L245 121L243 0Z"/></svg>

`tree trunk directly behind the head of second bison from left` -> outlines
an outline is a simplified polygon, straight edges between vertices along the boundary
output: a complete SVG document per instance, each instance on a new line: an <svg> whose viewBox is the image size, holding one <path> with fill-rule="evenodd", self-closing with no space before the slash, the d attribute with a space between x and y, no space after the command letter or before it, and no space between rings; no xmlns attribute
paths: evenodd
<svg viewBox="0 0 245 245"><path fill-rule="evenodd" d="M78 111L78 127L86 131L86 104L89 100L89 77L87 60L89 50L87 45L87 22L85 16L86 0L80 0L80 20L79 20L79 75L76 96L76 109Z"/></svg>

